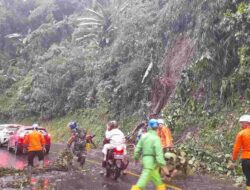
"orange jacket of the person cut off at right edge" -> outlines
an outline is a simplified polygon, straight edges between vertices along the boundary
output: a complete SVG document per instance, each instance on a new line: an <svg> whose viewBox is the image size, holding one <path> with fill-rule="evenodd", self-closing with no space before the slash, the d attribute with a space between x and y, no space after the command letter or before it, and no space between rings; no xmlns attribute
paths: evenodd
<svg viewBox="0 0 250 190"><path fill-rule="evenodd" d="M233 148L233 160L237 160L240 150L242 150L241 159L250 159L250 126L237 134Z"/></svg>

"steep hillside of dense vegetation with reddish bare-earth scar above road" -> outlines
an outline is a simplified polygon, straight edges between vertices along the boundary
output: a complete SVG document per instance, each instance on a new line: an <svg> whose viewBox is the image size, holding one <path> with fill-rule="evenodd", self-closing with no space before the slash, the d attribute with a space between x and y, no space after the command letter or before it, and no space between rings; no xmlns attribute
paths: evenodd
<svg viewBox="0 0 250 190"><path fill-rule="evenodd" d="M247 0L0 0L0 120L59 140L72 119L101 137L110 118L127 132L162 113L225 173L250 112L249 31Z"/></svg>

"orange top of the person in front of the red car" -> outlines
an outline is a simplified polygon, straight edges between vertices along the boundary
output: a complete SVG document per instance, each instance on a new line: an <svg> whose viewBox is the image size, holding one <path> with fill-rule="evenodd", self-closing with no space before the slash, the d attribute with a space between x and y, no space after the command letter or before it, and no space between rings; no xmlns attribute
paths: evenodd
<svg viewBox="0 0 250 190"><path fill-rule="evenodd" d="M45 139L43 135L38 131L32 131L30 134L26 135L24 138L25 145L28 145L28 151L39 151L43 150L45 145Z"/></svg>

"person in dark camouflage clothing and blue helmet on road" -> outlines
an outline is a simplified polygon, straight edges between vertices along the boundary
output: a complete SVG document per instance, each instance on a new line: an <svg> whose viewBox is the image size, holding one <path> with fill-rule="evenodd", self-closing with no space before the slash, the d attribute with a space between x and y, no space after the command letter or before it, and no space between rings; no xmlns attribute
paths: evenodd
<svg viewBox="0 0 250 190"><path fill-rule="evenodd" d="M73 154L78 157L78 162L81 162L82 156L85 154L85 145L86 145L86 131L84 129L79 129L75 121L68 124L68 128L71 131L71 137L67 142L67 148L70 148L72 143ZM83 163L81 163L83 165Z"/></svg>

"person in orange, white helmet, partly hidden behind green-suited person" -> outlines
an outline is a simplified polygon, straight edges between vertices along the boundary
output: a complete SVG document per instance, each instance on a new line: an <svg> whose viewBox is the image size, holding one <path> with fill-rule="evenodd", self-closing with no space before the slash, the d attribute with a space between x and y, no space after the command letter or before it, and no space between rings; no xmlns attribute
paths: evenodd
<svg viewBox="0 0 250 190"><path fill-rule="evenodd" d="M157 129L157 135L161 139L161 145L163 148L163 152L167 152L168 149L173 149L173 138L170 129L165 125L163 119L157 120L159 123L159 127Z"/></svg>

